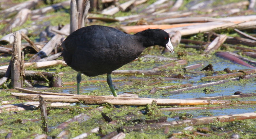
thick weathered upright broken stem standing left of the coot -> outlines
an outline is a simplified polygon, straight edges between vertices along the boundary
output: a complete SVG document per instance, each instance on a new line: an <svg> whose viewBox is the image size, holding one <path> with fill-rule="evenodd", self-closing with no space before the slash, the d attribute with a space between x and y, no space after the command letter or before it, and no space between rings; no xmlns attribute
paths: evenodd
<svg viewBox="0 0 256 139"><path fill-rule="evenodd" d="M12 70L11 70L11 84L12 87L22 87L23 78L20 76L21 69L21 33L16 31L13 33L14 42L13 42L13 52L12 52Z"/></svg>

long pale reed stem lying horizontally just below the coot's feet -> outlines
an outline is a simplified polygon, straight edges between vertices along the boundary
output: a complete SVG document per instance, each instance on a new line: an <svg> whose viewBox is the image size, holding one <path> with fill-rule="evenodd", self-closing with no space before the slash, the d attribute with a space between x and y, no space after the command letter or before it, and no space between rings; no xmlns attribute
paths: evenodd
<svg viewBox="0 0 256 139"><path fill-rule="evenodd" d="M38 101L37 94L11 93L18 96L22 100ZM151 99L151 98L127 98L113 96L87 96L87 95L41 95L47 102L80 102L84 104L103 104L110 103L112 105L129 105L129 106L145 106L156 101L158 106L184 106L184 105L220 105L220 104L255 104L256 101L237 101L231 100L196 100L196 99Z"/></svg>

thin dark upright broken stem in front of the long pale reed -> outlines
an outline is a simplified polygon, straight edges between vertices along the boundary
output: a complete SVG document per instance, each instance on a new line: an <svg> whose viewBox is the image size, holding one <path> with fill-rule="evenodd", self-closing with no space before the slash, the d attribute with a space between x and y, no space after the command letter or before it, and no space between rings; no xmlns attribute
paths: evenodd
<svg viewBox="0 0 256 139"><path fill-rule="evenodd" d="M47 133L48 132L47 111L46 111L46 104L42 96L39 96L39 102L40 102L40 110L41 110L42 128L44 132Z"/></svg>

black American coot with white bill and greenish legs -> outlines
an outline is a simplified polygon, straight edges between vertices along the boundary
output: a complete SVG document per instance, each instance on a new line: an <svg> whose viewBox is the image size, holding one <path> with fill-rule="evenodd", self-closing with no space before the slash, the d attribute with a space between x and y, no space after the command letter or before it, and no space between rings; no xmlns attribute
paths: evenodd
<svg viewBox="0 0 256 139"><path fill-rule="evenodd" d="M92 25L76 30L61 44L68 66L78 71L77 94L81 73L98 76L107 73L107 82L114 96L111 72L136 59L150 46L159 45L174 53L169 33L162 29L147 29L134 35L108 26Z"/></svg>

